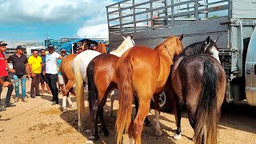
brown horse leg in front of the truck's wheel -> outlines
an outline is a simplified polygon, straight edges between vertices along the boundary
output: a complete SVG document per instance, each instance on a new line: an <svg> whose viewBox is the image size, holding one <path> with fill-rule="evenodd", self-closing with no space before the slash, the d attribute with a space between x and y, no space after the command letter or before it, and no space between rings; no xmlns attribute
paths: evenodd
<svg viewBox="0 0 256 144"><path fill-rule="evenodd" d="M162 130L160 127L159 117L160 117L160 107L159 107L159 98L158 94L154 94L154 114L156 118L156 124L155 124L155 135L160 137L162 135Z"/></svg>

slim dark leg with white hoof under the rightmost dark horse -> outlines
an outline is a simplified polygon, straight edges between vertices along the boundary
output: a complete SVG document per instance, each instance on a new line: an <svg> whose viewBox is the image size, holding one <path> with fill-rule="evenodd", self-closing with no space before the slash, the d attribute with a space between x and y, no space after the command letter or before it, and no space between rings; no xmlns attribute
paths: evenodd
<svg viewBox="0 0 256 144"><path fill-rule="evenodd" d="M182 120L182 102L178 98L177 94L174 94L175 102L176 102L176 122L177 122L177 131L176 134L174 134L174 139L180 140L182 139L182 128L181 128L181 120Z"/></svg>

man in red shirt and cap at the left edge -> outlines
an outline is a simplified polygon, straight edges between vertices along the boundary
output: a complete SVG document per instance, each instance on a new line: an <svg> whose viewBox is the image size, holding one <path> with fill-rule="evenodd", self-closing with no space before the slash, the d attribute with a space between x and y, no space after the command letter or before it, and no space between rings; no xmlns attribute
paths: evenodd
<svg viewBox="0 0 256 144"><path fill-rule="evenodd" d="M6 94L6 102L5 102L5 106L16 106L13 103L10 102L10 95L14 90L14 85L12 83L10 83L10 78L8 76L8 72L6 70L6 67L8 68L8 70L14 72L13 69L10 69L10 67L8 66L7 62L6 62L6 56L5 54L3 54L3 52L6 51L6 43L5 42L0 42L0 96L2 93L2 86L6 86L8 87L7 90L7 94ZM6 83L8 82L8 83ZM6 108L4 106L2 106L2 102L1 102L1 98L0 98L0 111L2 110L6 110Z"/></svg>

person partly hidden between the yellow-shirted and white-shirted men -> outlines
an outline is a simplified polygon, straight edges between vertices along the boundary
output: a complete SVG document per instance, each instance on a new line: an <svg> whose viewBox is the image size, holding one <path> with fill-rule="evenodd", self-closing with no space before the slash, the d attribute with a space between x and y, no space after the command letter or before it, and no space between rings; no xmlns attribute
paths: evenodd
<svg viewBox="0 0 256 144"><path fill-rule="evenodd" d="M42 49L42 50L40 50L40 53L41 53L41 58L42 58L42 64L44 64L44 63L46 63L46 50ZM48 86L45 71L46 71L46 65L43 65L42 66L41 77L40 77L40 83L41 83L41 87L42 87L42 94L44 94L46 92L45 91L45 86L47 88L48 94L50 94L50 87ZM45 85L45 82L46 82L46 85Z"/></svg>

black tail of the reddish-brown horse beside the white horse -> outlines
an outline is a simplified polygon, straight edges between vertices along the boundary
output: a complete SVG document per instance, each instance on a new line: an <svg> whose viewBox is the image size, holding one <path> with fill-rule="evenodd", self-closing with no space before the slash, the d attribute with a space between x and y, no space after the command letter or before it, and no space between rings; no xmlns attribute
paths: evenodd
<svg viewBox="0 0 256 144"><path fill-rule="evenodd" d="M94 83L94 61L91 61L87 66L87 78L88 78L88 101L90 107L90 122L94 122L94 115L97 114L98 106L98 90Z"/></svg>

